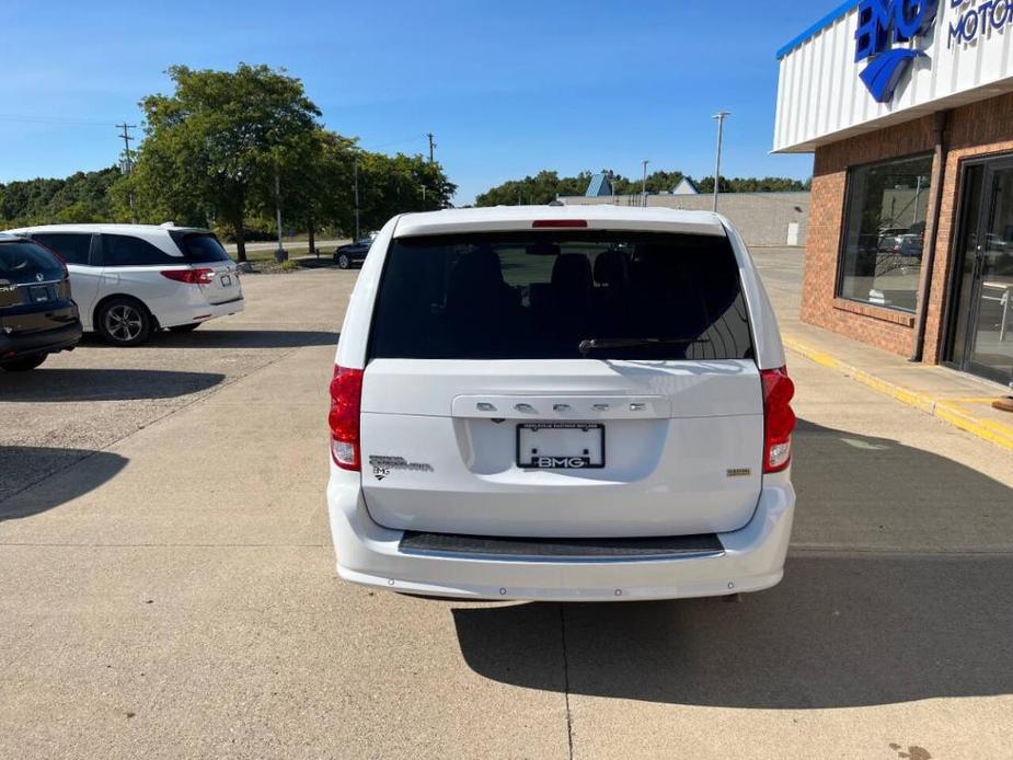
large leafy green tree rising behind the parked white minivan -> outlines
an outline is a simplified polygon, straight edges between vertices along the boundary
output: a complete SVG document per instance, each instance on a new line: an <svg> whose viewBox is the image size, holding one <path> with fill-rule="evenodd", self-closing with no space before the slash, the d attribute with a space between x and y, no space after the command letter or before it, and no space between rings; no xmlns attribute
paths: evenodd
<svg viewBox="0 0 1013 760"><path fill-rule="evenodd" d="M148 221L214 221L232 233L245 261L246 215L270 197L276 172L318 129L320 110L300 80L267 66L173 66L169 76L172 95L141 101L145 141L120 193L133 194Z"/></svg>

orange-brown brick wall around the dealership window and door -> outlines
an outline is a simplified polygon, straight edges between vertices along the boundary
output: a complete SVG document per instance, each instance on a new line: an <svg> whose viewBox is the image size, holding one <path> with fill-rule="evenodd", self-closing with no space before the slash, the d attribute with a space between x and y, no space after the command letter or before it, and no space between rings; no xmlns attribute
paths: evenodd
<svg viewBox="0 0 1013 760"><path fill-rule="evenodd" d="M836 297L838 254L848 168L933 150L933 124L934 118L925 116L817 149L802 295L802 319L805 322L895 354L912 353L912 314ZM1013 94L954 110L947 142L949 153L943 175L943 195L935 230L935 265L931 273L925 321L924 360L930 362L939 361L942 352L943 311L953 266L960 162L1013 151ZM933 203L929 206L930 219L935 215L934 197L933 194Z"/></svg>

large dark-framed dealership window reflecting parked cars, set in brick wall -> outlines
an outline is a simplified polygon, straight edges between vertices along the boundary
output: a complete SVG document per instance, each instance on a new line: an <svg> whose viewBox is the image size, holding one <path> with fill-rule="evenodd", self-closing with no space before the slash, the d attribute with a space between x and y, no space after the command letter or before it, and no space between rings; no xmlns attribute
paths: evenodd
<svg viewBox="0 0 1013 760"><path fill-rule="evenodd" d="M914 311L932 157L853 169L844 210L838 295Z"/></svg>

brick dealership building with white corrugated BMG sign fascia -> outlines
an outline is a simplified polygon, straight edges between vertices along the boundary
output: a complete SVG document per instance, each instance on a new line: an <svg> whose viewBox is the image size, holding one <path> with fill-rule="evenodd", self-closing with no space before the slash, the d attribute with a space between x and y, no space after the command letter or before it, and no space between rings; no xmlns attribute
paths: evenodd
<svg viewBox="0 0 1013 760"><path fill-rule="evenodd" d="M1013 379L1013 0L851 0L778 51L815 153L802 319Z"/></svg>

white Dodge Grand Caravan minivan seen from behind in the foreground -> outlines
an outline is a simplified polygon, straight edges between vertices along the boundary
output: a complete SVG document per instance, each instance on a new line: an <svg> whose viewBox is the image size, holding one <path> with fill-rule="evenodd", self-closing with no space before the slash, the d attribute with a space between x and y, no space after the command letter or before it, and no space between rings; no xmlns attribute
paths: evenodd
<svg viewBox="0 0 1013 760"><path fill-rule="evenodd" d="M355 286L331 383L338 574L492 599L773 586L795 505L793 391L723 217L396 217Z"/></svg>

